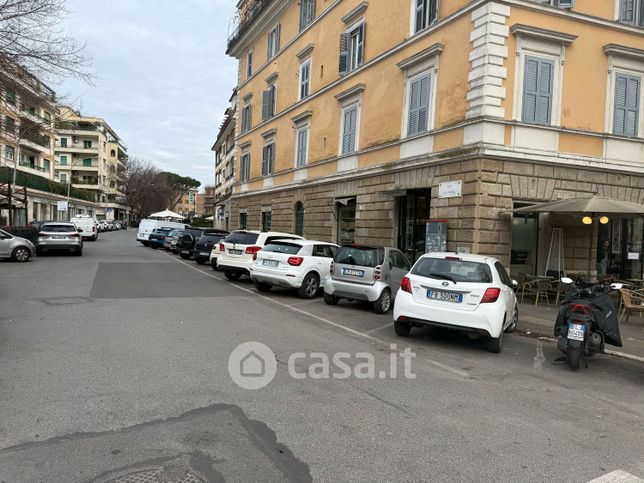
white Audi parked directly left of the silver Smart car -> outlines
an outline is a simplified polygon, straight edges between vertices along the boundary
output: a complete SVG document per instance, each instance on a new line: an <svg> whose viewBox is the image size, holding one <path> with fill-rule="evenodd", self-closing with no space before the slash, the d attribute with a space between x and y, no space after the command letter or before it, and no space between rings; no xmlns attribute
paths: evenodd
<svg viewBox="0 0 644 483"><path fill-rule="evenodd" d="M321 241L275 240L254 255L250 278L260 292L294 288L301 298L311 299L329 276L339 248Z"/></svg>

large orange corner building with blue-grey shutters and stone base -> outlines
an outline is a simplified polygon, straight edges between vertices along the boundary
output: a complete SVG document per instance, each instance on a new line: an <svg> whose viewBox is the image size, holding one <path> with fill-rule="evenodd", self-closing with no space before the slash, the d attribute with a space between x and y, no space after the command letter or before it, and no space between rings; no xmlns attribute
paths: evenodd
<svg viewBox="0 0 644 483"><path fill-rule="evenodd" d="M414 259L435 248L427 221L444 220L449 250L525 273L544 270L557 226L568 269L610 240L615 270L641 276L641 220L508 213L595 193L644 201L641 0L238 8L236 224Z"/></svg>

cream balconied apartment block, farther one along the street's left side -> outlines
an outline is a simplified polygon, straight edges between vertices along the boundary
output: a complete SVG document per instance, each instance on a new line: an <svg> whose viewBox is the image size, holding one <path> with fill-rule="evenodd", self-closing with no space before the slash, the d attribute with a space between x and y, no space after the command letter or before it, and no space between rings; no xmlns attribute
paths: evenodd
<svg viewBox="0 0 644 483"><path fill-rule="evenodd" d="M97 218L127 219L128 154L121 138L104 119L83 116L69 107L60 108L57 124L55 180L89 192ZM73 203L70 210L74 214Z"/></svg>

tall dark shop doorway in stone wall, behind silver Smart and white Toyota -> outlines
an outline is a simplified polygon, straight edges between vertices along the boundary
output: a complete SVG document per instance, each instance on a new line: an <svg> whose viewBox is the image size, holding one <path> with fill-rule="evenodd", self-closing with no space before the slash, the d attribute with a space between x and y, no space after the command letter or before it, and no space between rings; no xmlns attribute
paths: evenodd
<svg viewBox="0 0 644 483"><path fill-rule="evenodd" d="M430 201L430 190L408 190L406 196L399 198L398 249L412 263L425 253Z"/></svg>

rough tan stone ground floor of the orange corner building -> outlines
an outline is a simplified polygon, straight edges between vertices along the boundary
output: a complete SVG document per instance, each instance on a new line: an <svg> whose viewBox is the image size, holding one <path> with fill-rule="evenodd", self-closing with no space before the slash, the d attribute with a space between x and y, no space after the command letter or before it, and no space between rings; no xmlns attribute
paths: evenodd
<svg viewBox="0 0 644 483"><path fill-rule="evenodd" d="M441 197L441 184L455 181L461 182L460 196ZM641 222L631 221L629 228L626 220L610 220L610 226L595 220L588 226L582 215L510 213L525 205L593 194L644 203L644 175L473 156L419 160L413 166L393 164L340 179L237 193L230 228L299 231L309 239L395 246L416 258L425 251L425 222L446 220L449 251L492 255L512 272L530 274L556 266L558 251L566 271L581 273L590 267L594 273L598 240L608 238L616 257L626 260L626 253L639 253L638 261L631 255L628 269L619 270L629 272L622 276L640 278ZM554 228L561 228L561 244L553 241Z"/></svg>

